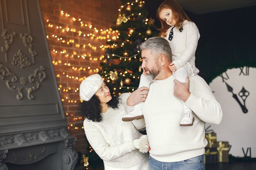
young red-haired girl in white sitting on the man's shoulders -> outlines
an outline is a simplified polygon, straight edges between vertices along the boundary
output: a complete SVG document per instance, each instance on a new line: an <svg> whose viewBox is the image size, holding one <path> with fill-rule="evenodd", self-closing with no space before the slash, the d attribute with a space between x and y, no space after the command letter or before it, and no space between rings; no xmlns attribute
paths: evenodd
<svg viewBox="0 0 256 170"><path fill-rule="evenodd" d="M169 68L173 71L175 79L185 82L187 76L192 77L199 73L195 67L195 50L200 38L198 28L175 0L164 1L157 9L157 18L161 22L159 36L168 40L173 53L173 62ZM142 74L139 87L149 88L150 81ZM132 121L143 118L141 104L136 105L122 120ZM192 126L194 121L192 111L184 103L183 106L180 126Z"/></svg>

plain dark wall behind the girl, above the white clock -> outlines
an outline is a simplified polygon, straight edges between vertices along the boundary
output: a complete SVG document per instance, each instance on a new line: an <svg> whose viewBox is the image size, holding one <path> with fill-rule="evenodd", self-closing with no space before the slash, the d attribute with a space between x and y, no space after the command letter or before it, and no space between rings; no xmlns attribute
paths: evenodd
<svg viewBox="0 0 256 170"><path fill-rule="evenodd" d="M158 28L155 11L162 2L150 0L146 4ZM201 35L195 65L208 83L227 68L256 67L256 6L200 15L186 13Z"/></svg>

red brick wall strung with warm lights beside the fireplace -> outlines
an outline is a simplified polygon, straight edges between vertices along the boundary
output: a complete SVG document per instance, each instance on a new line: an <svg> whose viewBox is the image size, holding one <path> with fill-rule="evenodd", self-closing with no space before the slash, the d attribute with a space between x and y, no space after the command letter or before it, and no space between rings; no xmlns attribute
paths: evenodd
<svg viewBox="0 0 256 170"><path fill-rule="evenodd" d="M102 61L100 56L104 55L100 46L106 45L106 39L101 38L108 34L111 37L112 33L104 33L104 30L113 24L120 5L120 0L40 0L69 132L77 139L74 149L83 153L87 146L83 119L77 113L80 102L77 88L83 78L97 73ZM99 32L94 30L95 27Z"/></svg>

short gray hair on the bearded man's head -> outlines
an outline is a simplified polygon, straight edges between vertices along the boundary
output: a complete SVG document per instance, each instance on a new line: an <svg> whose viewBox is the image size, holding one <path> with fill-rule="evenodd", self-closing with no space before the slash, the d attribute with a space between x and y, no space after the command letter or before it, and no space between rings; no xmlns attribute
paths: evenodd
<svg viewBox="0 0 256 170"><path fill-rule="evenodd" d="M162 37L152 37L140 44L140 49L151 50L151 54L164 55L167 60L172 62L172 50L169 42ZM157 56L158 57L158 56ZM156 58L155 58L156 59Z"/></svg>

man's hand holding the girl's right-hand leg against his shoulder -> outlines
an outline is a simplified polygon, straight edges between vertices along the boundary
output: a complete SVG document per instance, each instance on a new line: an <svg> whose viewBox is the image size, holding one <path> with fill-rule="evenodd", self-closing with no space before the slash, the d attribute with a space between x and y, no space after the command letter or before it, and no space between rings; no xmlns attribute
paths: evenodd
<svg viewBox="0 0 256 170"><path fill-rule="evenodd" d="M175 83L173 94L179 99L182 99L183 102L186 102L190 96L189 77L186 77L185 83L179 82L177 79L174 79L173 82Z"/></svg>

